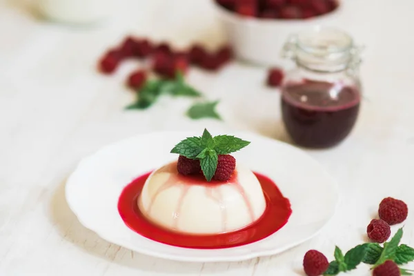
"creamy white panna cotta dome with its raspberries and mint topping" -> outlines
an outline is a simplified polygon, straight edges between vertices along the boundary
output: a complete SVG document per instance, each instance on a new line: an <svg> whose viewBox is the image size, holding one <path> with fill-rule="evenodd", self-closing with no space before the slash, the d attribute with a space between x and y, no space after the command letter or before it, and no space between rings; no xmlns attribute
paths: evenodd
<svg viewBox="0 0 414 276"><path fill-rule="evenodd" d="M137 204L153 224L193 235L214 235L255 223L266 210L256 175L229 155L250 142L237 137L190 137L171 150L177 161L146 179Z"/></svg>

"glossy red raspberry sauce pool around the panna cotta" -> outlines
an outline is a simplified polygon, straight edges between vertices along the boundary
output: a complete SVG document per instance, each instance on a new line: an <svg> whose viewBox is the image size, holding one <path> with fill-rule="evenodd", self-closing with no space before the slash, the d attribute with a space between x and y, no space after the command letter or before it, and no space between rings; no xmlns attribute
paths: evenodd
<svg viewBox="0 0 414 276"><path fill-rule="evenodd" d="M188 235L160 228L146 219L137 204L137 199L149 175L150 172L141 175L124 188L119 197L118 210L124 223L131 230L154 242L194 249L242 246L276 233L288 222L292 214L290 201L282 195L276 184L268 177L255 172L264 192L266 210L262 217L253 224L240 230L215 235ZM214 183L204 185L214 185Z"/></svg>

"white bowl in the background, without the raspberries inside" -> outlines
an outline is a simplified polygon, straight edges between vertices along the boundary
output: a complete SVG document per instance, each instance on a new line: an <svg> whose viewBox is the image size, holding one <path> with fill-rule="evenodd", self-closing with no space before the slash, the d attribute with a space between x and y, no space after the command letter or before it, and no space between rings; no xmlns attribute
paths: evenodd
<svg viewBox="0 0 414 276"><path fill-rule="evenodd" d="M336 10L319 17L285 20L242 17L213 2L236 57L259 66L280 66L286 62L281 51L290 34L315 26L335 27L335 18L344 11L345 4L338 1Z"/></svg>

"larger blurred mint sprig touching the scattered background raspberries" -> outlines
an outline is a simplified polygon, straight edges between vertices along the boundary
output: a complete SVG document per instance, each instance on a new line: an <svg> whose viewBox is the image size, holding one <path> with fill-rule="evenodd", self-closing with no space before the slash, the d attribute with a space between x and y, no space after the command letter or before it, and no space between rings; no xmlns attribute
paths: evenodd
<svg viewBox="0 0 414 276"><path fill-rule="evenodd" d="M161 95L173 97L201 97L201 93L186 84L181 72L177 72L175 79L153 79L146 81L137 92L137 101L126 109L146 109L152 106Z"/></svg>

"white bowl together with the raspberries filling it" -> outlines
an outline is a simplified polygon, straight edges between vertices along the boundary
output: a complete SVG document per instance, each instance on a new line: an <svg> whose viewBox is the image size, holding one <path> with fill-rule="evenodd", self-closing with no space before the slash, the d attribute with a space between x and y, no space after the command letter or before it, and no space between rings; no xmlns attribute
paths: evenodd
<svg viewBox="0 0 414 276"><path fill-rule="evenodd" d="M212 0L224 32L242 60L259 66L283 64L279 57L291 33L311 26L336 26L341 0Z"/></svg>

